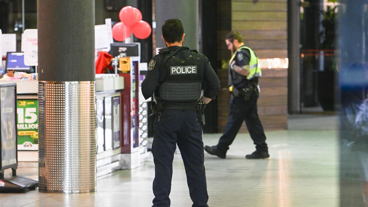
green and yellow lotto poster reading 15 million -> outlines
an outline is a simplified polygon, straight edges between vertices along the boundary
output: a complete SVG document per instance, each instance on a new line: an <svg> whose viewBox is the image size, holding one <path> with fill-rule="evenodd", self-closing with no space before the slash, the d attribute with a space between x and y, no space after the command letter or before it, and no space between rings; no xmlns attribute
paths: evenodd
<svg viewBox="0 0 368 207"><path fill-rule="evenodd" d="M18 150L38 150L37 99L17 100Z"/></svg>

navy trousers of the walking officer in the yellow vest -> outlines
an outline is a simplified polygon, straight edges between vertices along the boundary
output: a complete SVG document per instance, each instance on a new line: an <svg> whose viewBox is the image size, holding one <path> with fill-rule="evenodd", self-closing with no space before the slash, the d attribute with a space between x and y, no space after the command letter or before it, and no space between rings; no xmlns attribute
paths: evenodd
<svg viewBox="0 0 368 207"><path fill-rule="evenodd" d="M249 134L256 145L256 150L268 152L266 135L263 131L261 120L257 111L257 99L259 94L254 94L250 100L245 101L244 97L232 97L229 104L229 119L227 120L224 133L220 137L217 148L226 152L233 143L241 124L245 121Z"/></svg>

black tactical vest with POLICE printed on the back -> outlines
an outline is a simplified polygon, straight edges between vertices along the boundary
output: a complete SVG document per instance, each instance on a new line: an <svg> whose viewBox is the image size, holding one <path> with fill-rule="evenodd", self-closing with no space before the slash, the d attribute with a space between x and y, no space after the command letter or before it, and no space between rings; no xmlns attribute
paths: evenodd
<svg viewBox="0 0 368 207"><path fill-rule="evenodd" d="M173 52L173 51L170 51ZM163 55L169 55L169 52ZM166 61L163 70L165 80L158 88L158 100L165 102L193 102L201 98L201 81L199 69L201 61L198 52L192 50L187 58L171 57Z"/></svg>

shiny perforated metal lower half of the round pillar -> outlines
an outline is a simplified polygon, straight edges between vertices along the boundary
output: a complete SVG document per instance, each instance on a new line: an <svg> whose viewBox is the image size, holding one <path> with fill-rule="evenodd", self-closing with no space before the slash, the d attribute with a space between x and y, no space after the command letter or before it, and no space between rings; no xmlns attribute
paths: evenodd
<svg viewBox="0 0 368 207"><path fill-rule="evenodd" d="M40 81L38 113L39 191L95 191L95 81Z"/></svg>

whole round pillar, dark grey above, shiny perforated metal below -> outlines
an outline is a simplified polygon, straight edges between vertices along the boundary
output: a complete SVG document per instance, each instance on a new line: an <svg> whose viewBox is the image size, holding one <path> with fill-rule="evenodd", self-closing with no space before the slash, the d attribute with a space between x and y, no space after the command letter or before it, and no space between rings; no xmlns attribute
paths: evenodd
<svg viewBox="0 0 368 207"><path fill-rule="evenodd" d="M39 0L39 191L96 188L95 3Z"/></svg>

